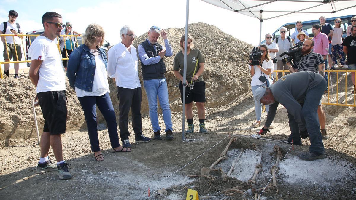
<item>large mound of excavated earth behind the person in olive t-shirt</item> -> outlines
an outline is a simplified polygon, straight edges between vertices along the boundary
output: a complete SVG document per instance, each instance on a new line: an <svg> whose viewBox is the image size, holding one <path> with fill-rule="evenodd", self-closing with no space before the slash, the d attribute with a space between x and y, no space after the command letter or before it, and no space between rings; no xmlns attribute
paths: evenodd
<svg viewBox="0 0 356 200"><path fill-rule="evenodd" d="M251 75L247 66L248 54L251 52L252 46L237 38L232 37L221 31L216 26L206 23L189 24L189 34L193 37L194 48L197 48L203 54L205 59L205 69L203 78L205 81L205 107L216 107L229 104L238 96L250 91ZM180 100L180 92L178 83L179 80L174 76L173 59L174 56L181 50L179 42L180 37L184 35L185 28L168 28L168 40L173 49L172 57L164 57L164 62L167 67L167 85L169 94L169 103L171 111L182 111L182 103ZM133 45L137 48L139 44L146 40L147 33L135 38ZM164 45L162 37L158 38L158 43ZM140 59L139 59L140 60ZM142 70L141 62L139 61L139 75L141 85ZM116 97L116 84L109 81L110 96L116 112L119 111L119 101ZM159 109L160 110L160 109ZM142 89L142 104L141 112L147 114L148 102L144 89Z"/></svg>

